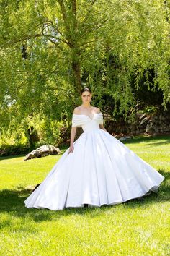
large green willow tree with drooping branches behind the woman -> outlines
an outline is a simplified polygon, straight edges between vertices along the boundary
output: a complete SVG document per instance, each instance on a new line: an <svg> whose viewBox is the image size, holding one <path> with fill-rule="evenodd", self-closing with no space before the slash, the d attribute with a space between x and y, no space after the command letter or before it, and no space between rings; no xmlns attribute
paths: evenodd
<svg viewBox="0 0 170 256"><path fill-rule="evenodd" d="M160 90L164 108L169 103L168 1L1 0L0 26L4 130L37 114L68 116L81 82L99 106L114 101L113 114L128 115L132 81L139 90L143 75L146 90Z"/></svg>

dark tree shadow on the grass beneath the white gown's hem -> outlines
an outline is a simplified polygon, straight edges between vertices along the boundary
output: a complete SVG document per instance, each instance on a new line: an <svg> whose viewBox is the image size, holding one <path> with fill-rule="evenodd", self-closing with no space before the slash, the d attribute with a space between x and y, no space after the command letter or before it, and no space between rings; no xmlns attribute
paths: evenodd
<svg viewBox="0 0 170 256"><path fill-rule="evenodd" d="M151 192L150 195L144 196L139 199L128 200L120 205L124 205L124 208L139 208L141 205L146 207L155 202L167 202L169 201L169 179L170 174L164 170L159 172L165 177L164 181L159 187L158 193ZM99 210L104 213L105 210L110 208L117 208L119 205L102 205L92 208L65 208L63 210L48 210L48 209L28 209L24 206L24 200L30 195L32 191L24 189L24 187L18 187L16 190L4 189L0 191L0 212L7 213L10 216L20 217L23 219L32 219L39 223L42 221L51 221L54 219L68 216L71 214L86 214L91 213L91 217L99 216ZM99 210L97 210L99 209ZM9 226L9 221L6 222Z"/></svg>

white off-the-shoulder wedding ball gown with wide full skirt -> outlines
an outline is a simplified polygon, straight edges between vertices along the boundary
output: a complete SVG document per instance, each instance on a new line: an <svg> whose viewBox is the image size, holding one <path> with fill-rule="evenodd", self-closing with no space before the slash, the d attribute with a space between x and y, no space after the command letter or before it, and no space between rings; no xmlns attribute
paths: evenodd
<svg viewBox="0 0 170 256"><path fill-rule="evenodd" d="M73 114L72 127L82 127L84 132L73 142L73 153L68 154L68 148L27 197L27 208L99 207L158 192L164 176L99 124L103 124L101 112L93 119Z"/></svg>

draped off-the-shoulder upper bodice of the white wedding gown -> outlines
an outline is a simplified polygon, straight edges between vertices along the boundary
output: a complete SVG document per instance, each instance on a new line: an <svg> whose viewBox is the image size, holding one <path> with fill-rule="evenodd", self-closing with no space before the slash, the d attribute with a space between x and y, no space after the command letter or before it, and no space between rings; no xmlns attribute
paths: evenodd
<svg viewBox="0 0 170 256"><path fill-rule="evenodd" d="M99 124L103 124L101 112L95 113L92 119L85 114L73 114L72 116L72 127L82 127L84 132L99 129Z"/></svg>

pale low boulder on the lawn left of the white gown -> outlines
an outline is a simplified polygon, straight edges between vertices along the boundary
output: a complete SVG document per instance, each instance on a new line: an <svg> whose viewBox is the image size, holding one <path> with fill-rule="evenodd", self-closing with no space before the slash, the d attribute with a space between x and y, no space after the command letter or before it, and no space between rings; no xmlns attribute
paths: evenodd
<svg viewBox="0 0 170 256"><path fill-rule="evenodd" d="M32 150L29 154L26 155L24 160L29 160L32 158L41 158L47 155L58 155L61 153L59 148L55 148L53 145L43 145L36 150Z"/></svg>

